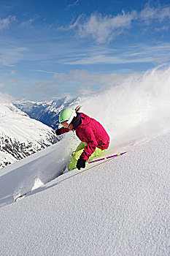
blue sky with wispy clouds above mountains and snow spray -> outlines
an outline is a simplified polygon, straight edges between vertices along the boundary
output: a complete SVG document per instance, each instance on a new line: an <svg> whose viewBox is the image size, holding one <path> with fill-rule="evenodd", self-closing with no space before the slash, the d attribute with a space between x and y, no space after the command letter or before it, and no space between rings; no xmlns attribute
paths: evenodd
<svg viewBox="0 0 170 256"><path fill-rule="evenodd" d="M169 60L169 1L0 1L0 99L96 93Z"/></svg>

